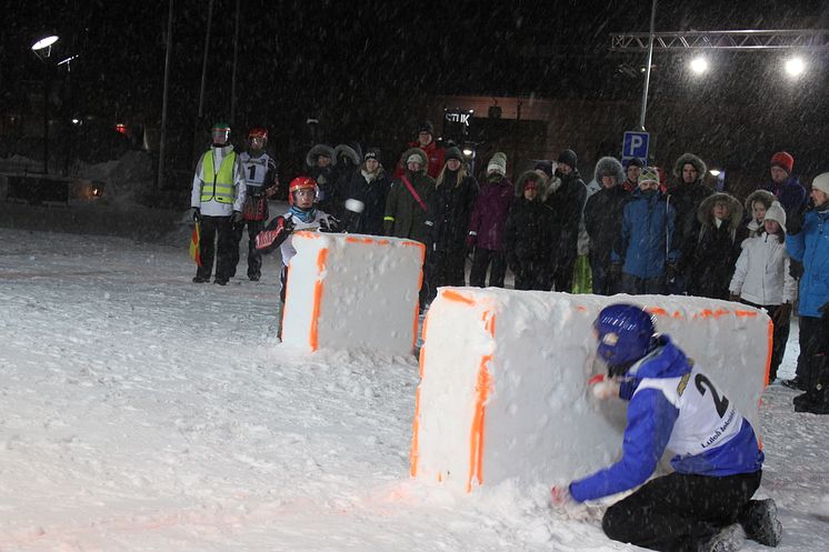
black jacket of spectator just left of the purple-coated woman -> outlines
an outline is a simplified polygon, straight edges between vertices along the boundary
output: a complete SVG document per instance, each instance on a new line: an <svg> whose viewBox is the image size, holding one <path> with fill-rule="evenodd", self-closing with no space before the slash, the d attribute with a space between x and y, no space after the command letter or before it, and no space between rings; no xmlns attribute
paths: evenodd
<svg viewBox="0 0 829 552"><path fill-rule="evenodd" d="M431 227L435 251L458 252L466 249L469 218L478 199L478 181L465 177L456 185L458 172L445 173L445 181L429 199L427 224Z"/></svg>

